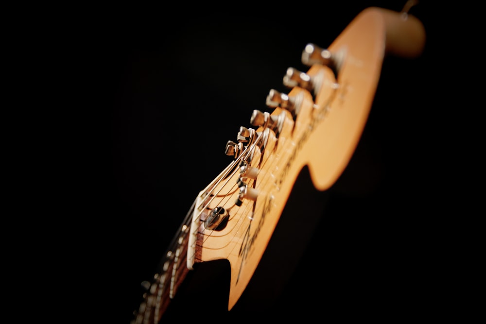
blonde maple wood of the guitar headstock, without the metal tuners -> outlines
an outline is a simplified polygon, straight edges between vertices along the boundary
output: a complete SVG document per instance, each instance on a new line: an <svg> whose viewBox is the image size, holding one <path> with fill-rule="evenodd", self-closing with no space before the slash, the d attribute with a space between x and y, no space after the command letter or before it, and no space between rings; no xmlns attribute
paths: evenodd
<svg viewBox="0 0 486 324"><path fill-rule="evenodd" d="M228 309L246 288L278 223L279 217L302 168L309 166L312 182L326 190L346 168L363 132L387 54L416 57L423 51L425 31L413 16L382 8L367 8L360 13L328 47L342 53L337 77L330 68L313 65L307 74L320 79L319 89L312 94L299 87L289 97L302 100L294 120L291 114L276 108L273 116L285 115L281 132L276 136L268 129L269 139L263 152L257 148L251 166L260 173L249 187L259 190L256 201L238 197L234 183L218 189L229 198L225 207L230 217L222 231L202 230L201 259L227 259L231 265ZM209 207L220 204L215 200ZM220 204L221 205L221 204Z"/></svg>

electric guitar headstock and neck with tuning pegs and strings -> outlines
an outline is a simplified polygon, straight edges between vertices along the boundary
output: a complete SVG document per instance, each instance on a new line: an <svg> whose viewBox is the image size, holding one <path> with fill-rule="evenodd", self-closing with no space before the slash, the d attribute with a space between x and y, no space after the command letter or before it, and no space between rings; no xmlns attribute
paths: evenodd
<svg viewBox="0 0 486 324"><path fill-rule="evenodd" d="M329 189L362 136L385 55L421 54L425 31L406 12L371 7L328 46L308 44L289 68L287 93L270 90L270 112L254 110L249 127L226 144L232 162L200 191L134 312L134 324L163 322L191 273L229 263L227 309L238 303L267 249L301 171ZM318 149L316 149L318 148Z"/></svg>

